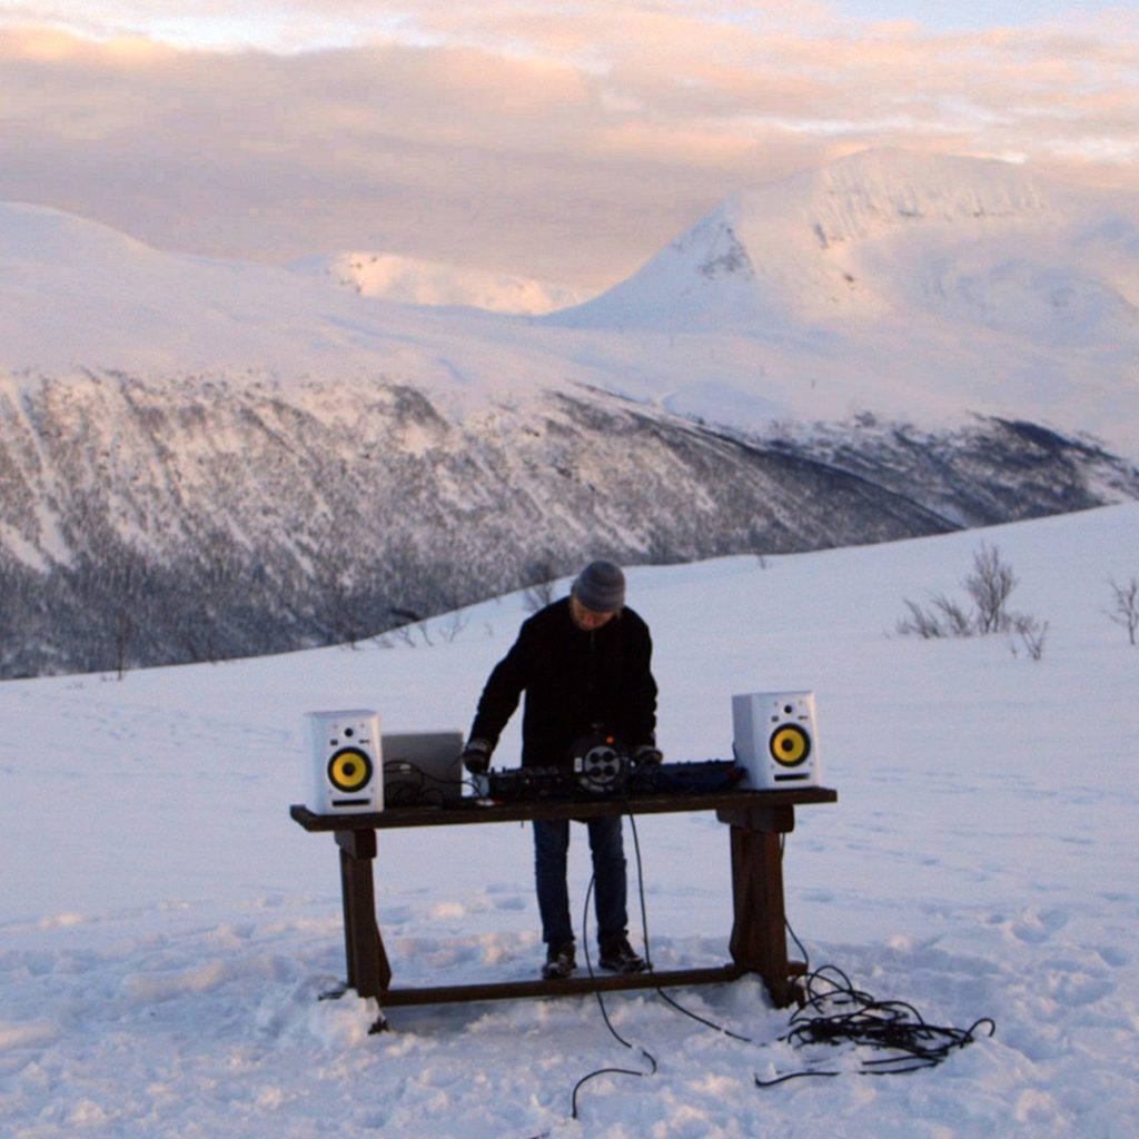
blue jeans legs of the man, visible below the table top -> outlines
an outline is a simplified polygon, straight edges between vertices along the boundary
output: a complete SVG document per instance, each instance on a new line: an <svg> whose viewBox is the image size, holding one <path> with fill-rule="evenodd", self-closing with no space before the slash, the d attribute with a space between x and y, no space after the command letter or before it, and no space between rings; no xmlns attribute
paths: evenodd
<svg viewBox="0 0 1139 1139"><path fill-rule="evenodd" d="M629 924L625 908L625 849L621 816L588 819L589 849L593 855L593 901L597 909L597 940L623 937ZM568 819L535 819L534 878L538 911L542 918L542 941L548 945L573 941L566 854L570 851Z"/></svg>

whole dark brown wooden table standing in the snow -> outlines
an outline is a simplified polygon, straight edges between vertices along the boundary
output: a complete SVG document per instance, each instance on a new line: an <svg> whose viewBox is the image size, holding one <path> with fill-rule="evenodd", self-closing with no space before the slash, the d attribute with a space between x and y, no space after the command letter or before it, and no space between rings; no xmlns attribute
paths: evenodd
<svg viewBox="0 0 1139 1139"><path fill-rule="evenodd" d="M480 806L473 801L464 800L461 806L401 806L376 814L313 814L305 806L294 805L289 809L289 814L305 830L330 831L336 839L341 859L344 952L347 962L344 990L354 989L360 997L375 997L382 1008L707 984L734 981L745 973L757 973L772 1001L784 1007L793 999L792 978L801 974L804 966L802 962L788 961L787 958L782 835L795 828L796 806L834 803L837 798L837 793L828 787L804 787L796 790L639 795L630 800L542 800L490 806ZM729 964L718 968L667 972L652 969L639 974L605 974L557 981L535 978L491 984L392 988L392 967L376 918L372 862L376 859L377 830L690 811L715 811L716 818L729 827L734 916Z"/></svg>

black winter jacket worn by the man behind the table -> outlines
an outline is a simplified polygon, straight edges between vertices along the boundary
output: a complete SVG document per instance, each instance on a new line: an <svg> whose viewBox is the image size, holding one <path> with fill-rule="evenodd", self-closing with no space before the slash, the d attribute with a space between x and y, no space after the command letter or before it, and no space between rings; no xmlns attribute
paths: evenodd
<svg viewBox="0 0 1139 1139"><path fill-rule="evenodd" d="M574 741L595 726L629 747L653 743L656 681L648 625L629 608L584 632L570 598L523 622L510 652L494 666L478 702L472 739L498 743L526 694L523 767L568 763Z"/></svg>

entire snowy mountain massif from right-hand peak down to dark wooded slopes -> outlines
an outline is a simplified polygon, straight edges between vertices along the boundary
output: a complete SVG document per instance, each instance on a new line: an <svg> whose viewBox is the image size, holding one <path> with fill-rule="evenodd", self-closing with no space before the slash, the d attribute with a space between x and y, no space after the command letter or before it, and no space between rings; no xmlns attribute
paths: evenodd
<svg viewBox="0 0 1139 1139"><path fill-rule="evenodd" d="M592 554L1139 497L1137 218L868 154L524 318L0 206L0 671L354 640Z"/></svg>

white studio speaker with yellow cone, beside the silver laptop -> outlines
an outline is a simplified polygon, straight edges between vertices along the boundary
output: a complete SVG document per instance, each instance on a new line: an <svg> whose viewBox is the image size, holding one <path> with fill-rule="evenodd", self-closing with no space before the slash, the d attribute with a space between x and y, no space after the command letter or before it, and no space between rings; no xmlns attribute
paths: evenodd
<svg viewBox="0 0 1139 1139"><path fill-rule="evenodd" d="M384 810L384 755L379 716L367 710L308 712L309 794L313 814Z"/></svg>

